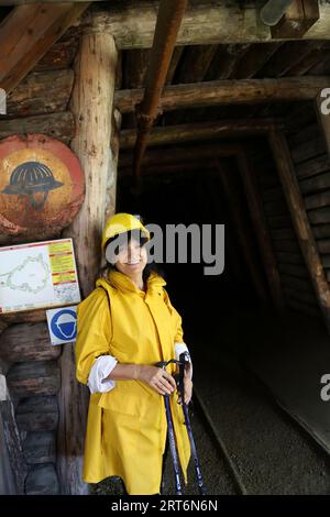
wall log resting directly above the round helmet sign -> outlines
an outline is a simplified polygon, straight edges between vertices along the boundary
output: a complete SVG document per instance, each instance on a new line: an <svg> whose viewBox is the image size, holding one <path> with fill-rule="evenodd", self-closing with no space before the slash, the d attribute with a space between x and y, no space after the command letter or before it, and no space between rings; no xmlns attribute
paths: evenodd
<svg viewBox="0 0 330 517"><path fill-rule="evenodd" d="M46 134L67 144L75 134L74 118L69 111L62 111L61 113L0 120L0 139L16 133Z"/></svg>

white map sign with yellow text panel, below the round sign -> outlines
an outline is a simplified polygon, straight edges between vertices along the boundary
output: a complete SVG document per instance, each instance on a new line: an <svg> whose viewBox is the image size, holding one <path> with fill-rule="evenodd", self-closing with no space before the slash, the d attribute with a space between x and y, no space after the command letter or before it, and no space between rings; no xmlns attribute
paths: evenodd
<svg viewBox="0 0 330 517"><path fill-rule="evenodd" d="M0 312L79 301L72 239L0 248Z"/></svg>

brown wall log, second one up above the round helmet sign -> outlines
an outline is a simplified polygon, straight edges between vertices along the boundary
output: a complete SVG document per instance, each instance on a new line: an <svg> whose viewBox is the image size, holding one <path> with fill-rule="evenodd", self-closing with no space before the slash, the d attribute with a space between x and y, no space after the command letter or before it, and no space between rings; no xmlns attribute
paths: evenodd
<svg viewBox="0 0 330 517"><path fill-rule="evenodd" d="M74 84L74 70L29 74L7 98L8 117L31 117L65 111Z"/></svg>

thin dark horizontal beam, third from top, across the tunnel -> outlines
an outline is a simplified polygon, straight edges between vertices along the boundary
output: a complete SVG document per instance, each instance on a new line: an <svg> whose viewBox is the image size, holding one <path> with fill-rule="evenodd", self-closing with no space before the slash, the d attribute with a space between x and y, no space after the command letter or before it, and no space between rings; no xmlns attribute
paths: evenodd
<svg viewBox="0 0 330 517"><path fill-rule="evenodd" d="M217 122L190 123L153 128L148 145L166 145L178 142L195 142L229 136L264 134L271 129L283 128L282 119L220 120ZM136 139L135 130L123 130L120 147L132 148Z"/></svg>

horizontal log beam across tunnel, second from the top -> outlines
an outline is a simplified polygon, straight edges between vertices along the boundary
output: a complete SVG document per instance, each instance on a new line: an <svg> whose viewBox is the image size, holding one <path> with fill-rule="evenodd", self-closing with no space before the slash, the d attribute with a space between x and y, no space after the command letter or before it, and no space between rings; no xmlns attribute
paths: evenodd
<svg viewBox="0 0 330 517"><path fill-rule="evenodd" d="M329 87L328 77L283 77L282 79L213 80L164 88L161 110L172 111L221 105L278 102L315 99ZM143 89L119 90L114 103L121 113L130 113L141 102Z"/></svg>

